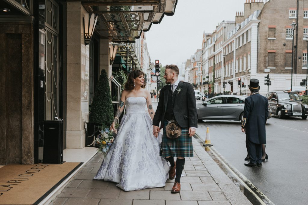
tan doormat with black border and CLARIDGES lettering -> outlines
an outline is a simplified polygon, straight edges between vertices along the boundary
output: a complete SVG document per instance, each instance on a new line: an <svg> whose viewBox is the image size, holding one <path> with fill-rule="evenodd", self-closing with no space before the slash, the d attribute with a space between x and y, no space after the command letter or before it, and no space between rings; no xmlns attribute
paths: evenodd
<svg viewBox="0 0 308 205"><path fill-rule="evenodd" d="M0 168L0 204L39 204L82 164L8 164Z"/></svg>

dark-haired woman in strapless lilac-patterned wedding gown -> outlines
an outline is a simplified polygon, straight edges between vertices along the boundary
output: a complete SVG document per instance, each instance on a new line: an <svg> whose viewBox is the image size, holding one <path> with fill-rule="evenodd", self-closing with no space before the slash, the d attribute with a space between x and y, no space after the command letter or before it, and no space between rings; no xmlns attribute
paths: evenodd
<svg viewBox="0 0 308 205"><path fill-rule="evenodd" d="M120 129L94 179L118 183L125 191L164 187L169 166L159 156L159 139L153 136L154 110L151 94L144 89L144 73L132 71L122 92L110 130L126 105ZM146 113L146 107L149 115Z"/></svg>

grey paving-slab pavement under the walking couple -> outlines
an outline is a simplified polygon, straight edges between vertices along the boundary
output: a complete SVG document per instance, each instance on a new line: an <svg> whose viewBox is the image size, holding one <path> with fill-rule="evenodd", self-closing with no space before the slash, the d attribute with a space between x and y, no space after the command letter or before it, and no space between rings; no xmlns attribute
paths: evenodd
<svg viewBox="0 0 308 205"><path fill-rule="evenodd" d="M193 147L194 157L185 158L180 193L171 194L174 179L167 180L165 187L138 191L123 191L116 183L93 180L104 159L103 154L96 154L50 204L251 204L239 184L228 177L195 138Z"/></svg>

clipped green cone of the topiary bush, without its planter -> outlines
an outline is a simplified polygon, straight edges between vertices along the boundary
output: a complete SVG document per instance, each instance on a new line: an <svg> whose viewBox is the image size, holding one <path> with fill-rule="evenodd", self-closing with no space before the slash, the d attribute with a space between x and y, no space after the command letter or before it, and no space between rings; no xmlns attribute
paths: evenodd
<svg viewBox="0 0 308 205"><path fill-rule="evenodd" d="M89 122L109 126L113 120L113 108L109 81L106 71L100 72L91 107L89 108Z"/></svg>

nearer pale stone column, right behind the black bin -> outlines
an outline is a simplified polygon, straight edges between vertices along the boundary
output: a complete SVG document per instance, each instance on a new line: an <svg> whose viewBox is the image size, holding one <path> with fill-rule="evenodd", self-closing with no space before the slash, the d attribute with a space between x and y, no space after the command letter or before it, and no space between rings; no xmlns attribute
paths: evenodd
<svg viewBox="0 0 308 205"><path fill-rule="evenodd" d="M83 22L80 2L67 2L67 148L83 148L81 124L81 43Z"/></svg>

